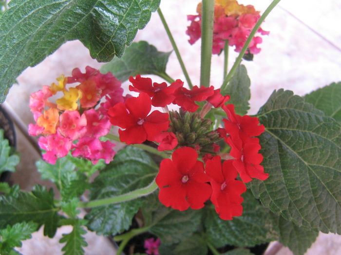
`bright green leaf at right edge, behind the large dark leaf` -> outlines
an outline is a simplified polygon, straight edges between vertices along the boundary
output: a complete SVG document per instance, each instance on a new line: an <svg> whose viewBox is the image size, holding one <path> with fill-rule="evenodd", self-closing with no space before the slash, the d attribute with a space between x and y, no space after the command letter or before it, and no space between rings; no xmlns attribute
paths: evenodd
<svg viewBox="0 0 341 255"><path fill-rule="evenodd" d="M341 122L341 82L332 83L304 96L316 109Z"/></svg>

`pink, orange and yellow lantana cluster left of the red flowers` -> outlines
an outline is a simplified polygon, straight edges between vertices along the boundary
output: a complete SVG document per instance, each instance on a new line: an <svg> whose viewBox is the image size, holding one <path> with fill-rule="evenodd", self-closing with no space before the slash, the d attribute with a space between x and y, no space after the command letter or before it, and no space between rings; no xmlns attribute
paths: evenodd
<svg viewBox="0 0 341 255"><path fill-rule="evenodd" d="M74 86L69 86L73 84ZM55 164L70 151L73 156L86 158L94 164L99 159L113 160L115 146L99 139L109 133L112 125L107 111L117 102L124 102L123 89L111 73L101 74L86 67L72 71L71 77L61 75L57 84L44 85L30 97L30 108L36 124L29 125L29 135L38 136L43 159ZM49 99L61 94L56 102ZM102 98L105 102L100 103Z"/></svg>

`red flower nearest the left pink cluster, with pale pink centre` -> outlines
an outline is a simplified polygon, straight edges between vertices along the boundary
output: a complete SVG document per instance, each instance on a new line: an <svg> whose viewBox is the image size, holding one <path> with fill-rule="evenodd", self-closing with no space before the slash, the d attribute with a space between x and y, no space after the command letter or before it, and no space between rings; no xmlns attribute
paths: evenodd
<svg viewBox="0 0 341 255"><path fill-rule="evenodd" d="M119 102L108 111L110 122L125 130L118 130L119 138L127 144L153 141L154 137L169 126L169 114L153 111L151 98L146 93L140 93L135 98L128 98L125 103Z"/></svg>

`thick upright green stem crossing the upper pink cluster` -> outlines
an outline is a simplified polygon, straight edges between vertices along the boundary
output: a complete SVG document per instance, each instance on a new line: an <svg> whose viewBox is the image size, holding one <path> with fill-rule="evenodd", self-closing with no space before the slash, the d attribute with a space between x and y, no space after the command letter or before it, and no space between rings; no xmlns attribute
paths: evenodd
<svg viewBox="0 0 341 255"><path fill-rule="evenodd" d="M209 86L213 41L214 1L202 0L200 86Z"/></svg>

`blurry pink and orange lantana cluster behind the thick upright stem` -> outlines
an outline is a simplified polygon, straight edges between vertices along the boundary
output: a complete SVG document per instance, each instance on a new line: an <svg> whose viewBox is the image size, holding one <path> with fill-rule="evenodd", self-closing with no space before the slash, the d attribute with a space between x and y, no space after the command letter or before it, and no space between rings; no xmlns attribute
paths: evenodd
<svg viewBox="0 0 341 255"><path fill-rule="evenodd" d="M197 6L197 13L198 15L187 17L191 22L186 32L190 44L194 44L201 37L201 2ZM215 0L212 54L220 54L225 43L235 46L235 51L240 52L260 17L260 13L252 5L245 6L237 0ZM261 28L257 33L269 34ZM260 43L262 38L254 36L246 53L259 53L261 49L257 46Z"/></svg>

